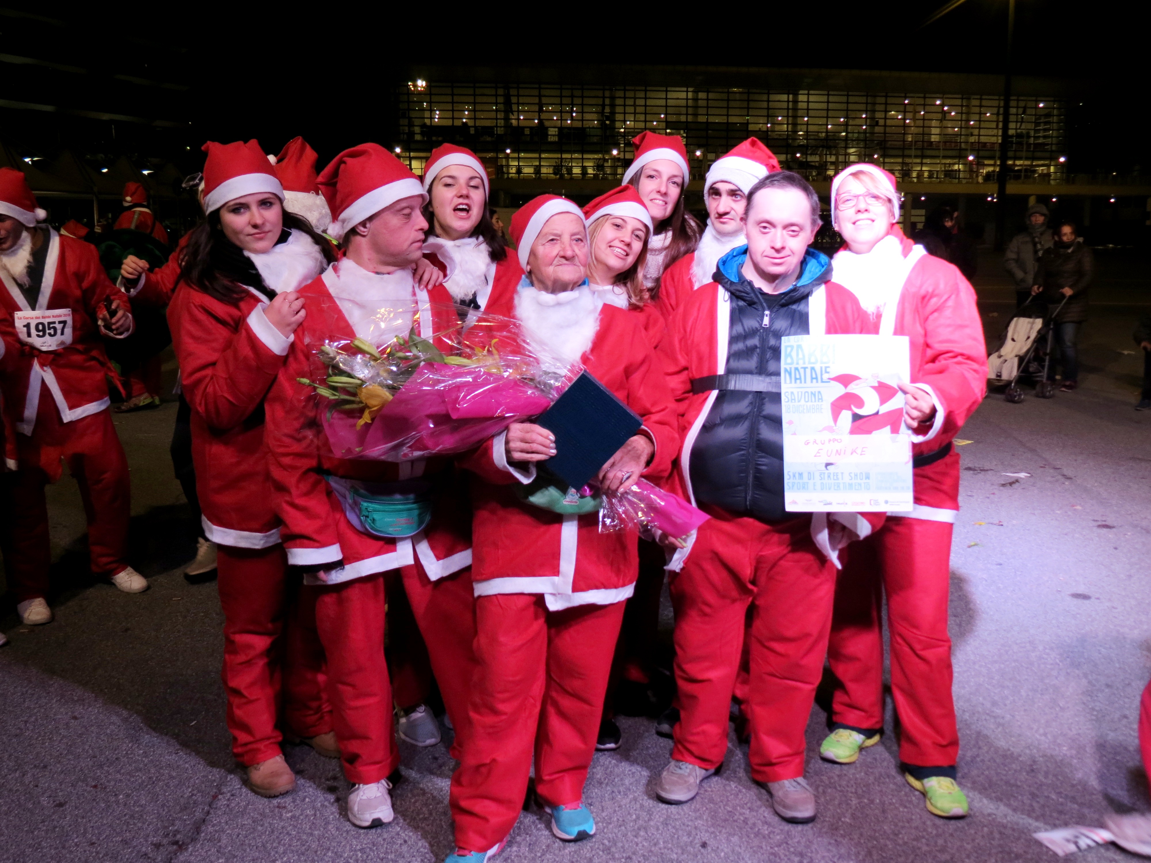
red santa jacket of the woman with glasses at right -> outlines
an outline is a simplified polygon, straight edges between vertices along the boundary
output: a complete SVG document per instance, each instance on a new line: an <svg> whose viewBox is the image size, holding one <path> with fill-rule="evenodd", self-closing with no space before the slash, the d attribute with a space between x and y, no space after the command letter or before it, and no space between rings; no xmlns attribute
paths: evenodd
<svg viewBox="0 0 1151 863"><path fill-rule="evenodd" d="M899 244L898 252L892 243ZM857 290L861 299L878 304L870 315L871 333L907 336L910 343L912 383L931 394L933 422L916 435L913 453L922 459L946 448L986 392L988 352L975 290L947 261L927 254L893 227L891 236L867 255L832 260L836 278ZM847 252L847 254L851 254ZM890 270L886 292L853 284L852 276L867 267L861 258L875 255ZM959 459L952 456L915 468L915 518L954 521L959 509Z"/></svg>

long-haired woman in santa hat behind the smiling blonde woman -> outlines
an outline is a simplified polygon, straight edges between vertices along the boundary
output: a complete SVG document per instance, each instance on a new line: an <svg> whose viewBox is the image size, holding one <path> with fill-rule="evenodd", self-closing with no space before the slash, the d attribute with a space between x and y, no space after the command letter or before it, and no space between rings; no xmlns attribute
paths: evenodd
<svg viewBox="0 0 1151 863"><path fill-rule="evenodd" d="M624 183L635 186L655 224L648 239L643 287L650 298L656 299L663 274L695 250L702 229L684 203L692 176L684 139L678 135L640 132L632 144L635 155L624 171Z"/></svg>

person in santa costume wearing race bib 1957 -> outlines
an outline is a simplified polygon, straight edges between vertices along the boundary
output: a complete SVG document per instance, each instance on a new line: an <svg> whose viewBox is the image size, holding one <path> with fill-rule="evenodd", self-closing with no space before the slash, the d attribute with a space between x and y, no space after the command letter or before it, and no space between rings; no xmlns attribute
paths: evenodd
<svg viewBox="0 0 1151 863"><path fill-rule="evenodd" d="M25 624L52 620L44 487L60 479L61 460L79 483L92 572L125 593L147 589L127 562L128 461L105 381L112 366L102 337L131 333L128 297L108 281L96 246L39 224L46 216L24 175L0 168L0 389L20 468L7 572Z"/></svg>

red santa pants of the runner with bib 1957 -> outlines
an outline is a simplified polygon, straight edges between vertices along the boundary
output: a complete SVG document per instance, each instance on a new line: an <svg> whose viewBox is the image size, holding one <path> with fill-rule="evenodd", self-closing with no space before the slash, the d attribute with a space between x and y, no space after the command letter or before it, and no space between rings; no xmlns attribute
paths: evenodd
<svg viewBox="0 0 1151 863"><path fill-rule="evenodd" d="M127 568L131 483L112 414L105 410L63 422L43 384L32 435L16 435L16 449L21 469L13 484L12 559L6 562L16 602L48 595L52 547L44 487L60 479L61 459L79 484L92 572L115 575Z"/></svg>

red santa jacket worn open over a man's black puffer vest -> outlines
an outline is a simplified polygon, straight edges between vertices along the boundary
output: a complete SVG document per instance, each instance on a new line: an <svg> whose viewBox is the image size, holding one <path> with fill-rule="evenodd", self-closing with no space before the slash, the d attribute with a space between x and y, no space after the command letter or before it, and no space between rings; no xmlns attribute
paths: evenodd
<svg viewBox="0 0 1151 863"><path fill-rule="evenodd" d="M727 291L716 282L692 291L672 315L664 342L668 382L679 410L678 460L674 474L665 484L693 504L692 448L717 390L693 392L692 380L724 374L730 303ZM810 335L867 334L874 330L851 291L834 282L824 283L808 298L808 324ZM820 549L838 566L838 551L846 541L868 536L883 525L884 519L883 512L817 512L811 517L811 535ZM829 529L829 521L838 522L847 533L839 528ZM679 571L683 567L693 543L694 536L686 549L674 553L668 564L669 570Z"/></svg>

